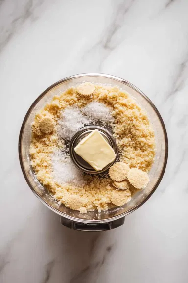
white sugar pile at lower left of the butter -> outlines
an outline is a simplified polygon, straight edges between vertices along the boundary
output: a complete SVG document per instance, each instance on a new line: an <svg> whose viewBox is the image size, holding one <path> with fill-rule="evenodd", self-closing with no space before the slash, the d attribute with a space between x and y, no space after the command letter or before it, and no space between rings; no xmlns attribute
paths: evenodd
<svg viewBox="0 0 188 283"><path fill-rule="evenodd" d="M52 154L51 161L52 175L56 182L61 185L70 183L76 186L83 186L85 184L83 173L73 165L71 159L65 153L56 150Z"/></svg>

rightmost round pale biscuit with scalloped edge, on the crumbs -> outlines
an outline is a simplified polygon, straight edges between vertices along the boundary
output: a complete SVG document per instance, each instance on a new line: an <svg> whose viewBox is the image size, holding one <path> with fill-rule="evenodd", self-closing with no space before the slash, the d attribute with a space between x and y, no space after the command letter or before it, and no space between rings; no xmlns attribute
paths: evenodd
<svg viewBox="0 0 188 283"><path fill-rule="evenodd" d="M140 190L145 188L149 182L148 174L138 168L130 169L127 178L135 188Z"/></svg>

